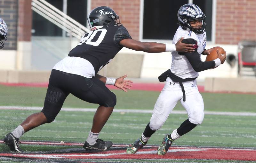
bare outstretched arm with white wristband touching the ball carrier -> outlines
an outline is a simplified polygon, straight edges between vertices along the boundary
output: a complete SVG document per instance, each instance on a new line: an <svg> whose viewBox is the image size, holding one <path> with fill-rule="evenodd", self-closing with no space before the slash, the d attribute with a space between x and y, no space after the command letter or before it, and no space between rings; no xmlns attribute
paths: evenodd
<svg viewBox="0 0 256 163"><path fill-rule="evenodd" d="M120 45L126 48L136 50L136 51L143 51L148 53L161 53L161 52L184 52L190 53L194 51L192 44L185 44L182 43L183 38L181 38L176 45L172 44L161 44L156 42L141 42L134 39L123 39L120 41Z"/></svg>

